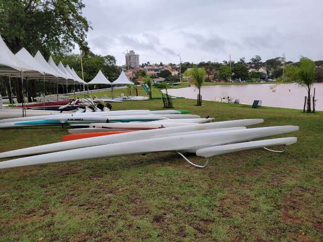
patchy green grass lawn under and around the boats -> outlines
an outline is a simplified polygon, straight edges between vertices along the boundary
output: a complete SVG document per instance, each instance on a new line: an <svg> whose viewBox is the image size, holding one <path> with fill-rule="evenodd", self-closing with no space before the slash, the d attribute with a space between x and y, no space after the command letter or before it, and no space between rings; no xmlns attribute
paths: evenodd
<svg viewBox="0 0 323 242"><path fill-rule="evenodd" d="M323 241L323 112L195 102L174 106L217 121L298 125L281 136L298 142L284 154L215 156L204 169L167 152L0 170L0 241ZM161 100L113 103L113 110L161 107ZM1 130L0 151L65 134Z"/></svg>

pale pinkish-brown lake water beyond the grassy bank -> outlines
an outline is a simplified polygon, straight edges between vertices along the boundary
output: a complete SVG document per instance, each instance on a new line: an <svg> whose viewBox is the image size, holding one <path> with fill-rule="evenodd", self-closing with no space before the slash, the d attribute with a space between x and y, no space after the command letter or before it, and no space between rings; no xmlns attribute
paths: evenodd
<svg viewBox="0 0 323 242"><path fill-rule="evenodd" d="M315 83L315 110L323 111L323 83ZM312 93L314 89L311 89ZM172 96L196 99L198 89L185 87L168 89ZM292 83L286 84L245 84L245 85L218 85L202 86L201 95L203 100L213 100L227 93L231 97L239 98L240 102L251 105L253 100L261 100L262 106L285 107L303 109L306 89Z"/></svg>

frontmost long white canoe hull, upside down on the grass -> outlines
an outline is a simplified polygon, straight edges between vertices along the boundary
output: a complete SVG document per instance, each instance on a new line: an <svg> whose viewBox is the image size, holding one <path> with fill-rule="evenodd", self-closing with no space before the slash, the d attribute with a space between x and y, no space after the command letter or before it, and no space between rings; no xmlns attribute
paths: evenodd
<svg viewBox="0 0 323 242"><path fill-rule="evenodd" d="M276 126L135 140L7 160L0 162L0 169L165 151L195 153L197 150L207 147L246 142L252 139L285 134L297 130L297 126ZM128 134L137 133L140 132Z"/></svg>

